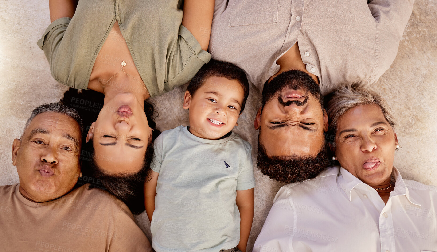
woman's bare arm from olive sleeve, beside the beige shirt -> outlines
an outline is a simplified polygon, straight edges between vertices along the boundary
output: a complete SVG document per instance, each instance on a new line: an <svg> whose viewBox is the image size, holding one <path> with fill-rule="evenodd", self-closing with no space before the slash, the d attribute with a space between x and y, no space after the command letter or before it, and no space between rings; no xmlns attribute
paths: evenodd
<svg viewBox="0 0 437 252"><path fill-rule="evenodd" d="M193 34L204 51L211 35L214 0L185 0L182 25Z"/></svg>

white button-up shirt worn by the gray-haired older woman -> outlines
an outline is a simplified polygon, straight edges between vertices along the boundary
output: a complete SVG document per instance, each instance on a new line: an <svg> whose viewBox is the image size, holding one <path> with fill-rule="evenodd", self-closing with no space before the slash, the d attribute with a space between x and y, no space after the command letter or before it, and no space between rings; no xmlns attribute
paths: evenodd
<svg viewBox="0 0 437 252"><path fill-rule="evenodd" d="M437 187L392 181L387 204L340 166L283 186L253 251L437 252Z"/></svg>

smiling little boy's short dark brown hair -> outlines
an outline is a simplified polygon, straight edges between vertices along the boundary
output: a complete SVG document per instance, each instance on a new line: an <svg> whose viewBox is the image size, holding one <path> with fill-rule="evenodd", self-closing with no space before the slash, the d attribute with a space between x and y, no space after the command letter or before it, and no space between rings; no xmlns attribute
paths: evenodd
<svg viewBox="0 0 437 252"><path fill-rule="evenodd" d="M249 81L247 80L246 73L243 69L232 63L211 59L208 64L203 65L193 79L191 79L191 82L187 87L190 95L193 96L205 80L212 76L225 77L229 80L235 79L241 84L244 91L244 100L241 104L240 114L243 113L247 97L249 96Z"/></svg>

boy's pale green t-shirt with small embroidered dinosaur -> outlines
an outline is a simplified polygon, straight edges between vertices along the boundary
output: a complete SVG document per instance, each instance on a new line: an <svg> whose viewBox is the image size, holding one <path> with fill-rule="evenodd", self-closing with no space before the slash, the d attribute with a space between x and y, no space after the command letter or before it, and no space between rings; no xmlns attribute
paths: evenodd
<svg viewBox="0 0 437 252"><path fill-rule="evenodd" d="M251 146L235 133L218 140L179 126L154 142L160 173L150 229L156 252L218 252L239 243L236 190L255 186Z"/></svg>

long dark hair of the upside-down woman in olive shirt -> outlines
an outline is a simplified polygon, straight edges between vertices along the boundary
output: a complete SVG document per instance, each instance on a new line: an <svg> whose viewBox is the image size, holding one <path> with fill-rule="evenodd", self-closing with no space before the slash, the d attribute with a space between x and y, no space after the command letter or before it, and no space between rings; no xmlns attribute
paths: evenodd
<svg viewBox="0 0 437 252"><path fill-rule="evenodd" d="M133 214L140 214L144 209L144 182L150 173L150 162L153 155L153 140L161 133L156 129L153 121L157 117L157 112L153 109L153 104L144 102L144 112L147 121L153 131L152 143L147 146L142 168L136 173L110 174L105 172L94 161L94 148L92 140L86 143L90 124L97 120L97 116L103 107L104 94L93 90L77 90L70 88L64 93L61 102L78 111L82 117L85 129L82 134L82 151L80 161L83 176L77 184L83 185L90 183L92 187L107 190L118 199L122 200L132 211Z"/></svg>

